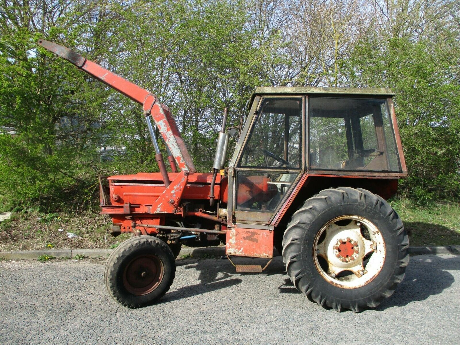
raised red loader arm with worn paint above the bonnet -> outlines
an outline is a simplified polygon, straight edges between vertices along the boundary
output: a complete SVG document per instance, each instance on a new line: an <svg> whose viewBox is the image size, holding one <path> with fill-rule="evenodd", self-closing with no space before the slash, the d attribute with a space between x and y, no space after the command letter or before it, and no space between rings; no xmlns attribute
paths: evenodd
<svg viewBox="0 0 460 345"><path fill-rule="evenodd" d="M119 75L110 72L108 69L99 66L97 63L87 60L85 57L82 57L80 54L67 47L41 39L38 40L38 44L73 63L76 67L110 86L112 89L131 98L134 102L142 104L144 107L144 116L150 115L154 119L179 169L188 172L196 171L193 160L185 146L184 139L182 139L173 115L167 106L161 104L157 96Z"/></svg>

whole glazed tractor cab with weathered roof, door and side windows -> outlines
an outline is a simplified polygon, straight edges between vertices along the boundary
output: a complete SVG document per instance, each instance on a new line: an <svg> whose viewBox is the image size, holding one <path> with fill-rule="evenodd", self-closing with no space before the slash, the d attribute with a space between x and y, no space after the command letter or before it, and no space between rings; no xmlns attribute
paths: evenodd
<svg viewBox="0 0 460 345"><path fill-rule="evenodd" d="M259 87L229 164L229 219L276 229L299 206L299 193L305 200L323 185L394 194L406 168L392 96L388 89Z"/></svg>

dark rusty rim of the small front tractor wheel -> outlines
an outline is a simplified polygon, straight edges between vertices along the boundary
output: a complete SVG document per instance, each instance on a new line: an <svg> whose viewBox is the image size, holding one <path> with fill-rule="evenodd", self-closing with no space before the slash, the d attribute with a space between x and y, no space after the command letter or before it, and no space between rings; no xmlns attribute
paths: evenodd
<svg viewBox="0 0 460 345"><path fill-rule="evenodd" d="M150 294L160 285L164 267L158 256L140 255L128 262L123 271L123 285L131 294Z"/></svg>

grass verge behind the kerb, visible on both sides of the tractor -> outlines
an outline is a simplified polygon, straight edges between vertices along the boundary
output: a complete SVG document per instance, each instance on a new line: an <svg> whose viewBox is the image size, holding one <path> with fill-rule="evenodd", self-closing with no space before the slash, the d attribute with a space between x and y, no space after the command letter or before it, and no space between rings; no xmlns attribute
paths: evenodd
<svg viewBox="0 0 460 345"><path fill-rule="evenodd" d="M460 245L460 204L422 207L409 199L397 199L391 206L403 220L411 246ZM0 250L116 248L131 235L113 237L108 232L110 223L108 216L95 212L22 210L0 223ZM68 233L76 237L69 238Z"/></svg>

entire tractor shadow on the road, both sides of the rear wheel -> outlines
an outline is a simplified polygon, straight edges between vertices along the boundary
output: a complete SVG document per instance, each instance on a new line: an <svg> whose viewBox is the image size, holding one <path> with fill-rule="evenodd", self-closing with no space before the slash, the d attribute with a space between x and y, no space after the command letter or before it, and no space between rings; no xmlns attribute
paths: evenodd
<svg viewBox="0 0 460 345"><path fill-rule="evenodd" d="M276 253L274 253L276 254ZM251 264L265 266L267 260L251 258L232 258L235 264ZM167 293L160 303L180 300L198 294L206 294L222 288L228 288L243 282L246 275L265 276L279 275L283 283L278 286L279 294L299 294L291 280L286 275L282 257L276 255L262 273L236 273L229 260L206 258L206 260L177 260L177 266L185 266L186 270L199 271L198 283ZM422 301L430 296L443 293L455 282L449 272L460 269L459 256L420 255L411 256L406 275L394 294L374 308L376 311L385 311L391 307L402 307L414 301ZM275 288L275 287L274 287Z"/></svg>

